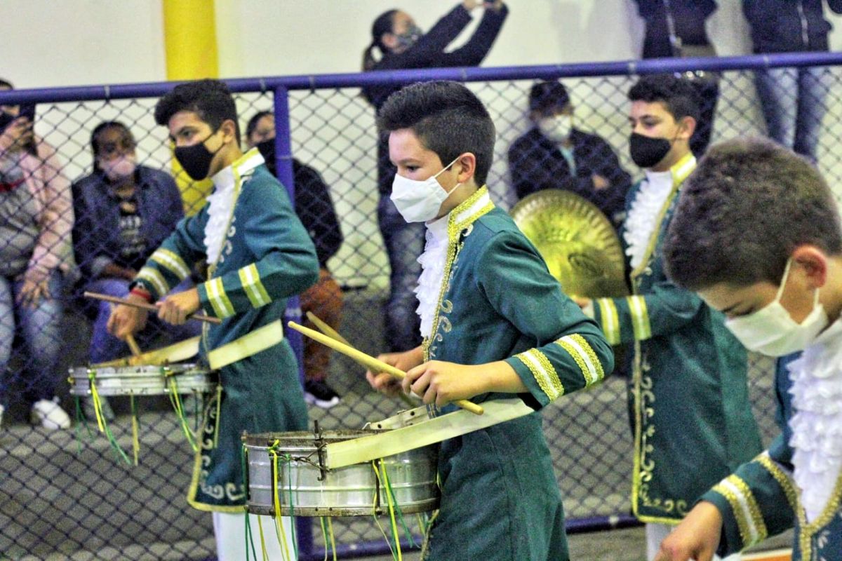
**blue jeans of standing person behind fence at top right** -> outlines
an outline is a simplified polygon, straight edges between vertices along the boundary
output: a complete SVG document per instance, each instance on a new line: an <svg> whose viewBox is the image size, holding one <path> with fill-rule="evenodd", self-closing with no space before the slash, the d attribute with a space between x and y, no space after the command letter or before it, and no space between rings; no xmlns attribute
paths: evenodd
<svg viewBox="0 0 842 561"><path fill-rule="evenodd" d="M754 75L770 138L813 163L827 110L825 70L823 66L769 68Z"/></svg>

